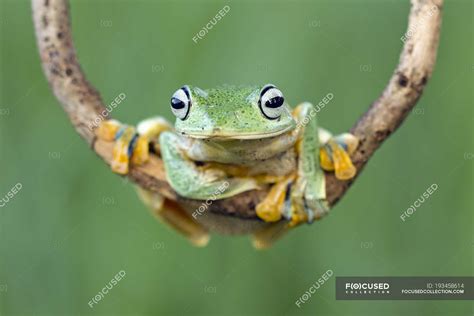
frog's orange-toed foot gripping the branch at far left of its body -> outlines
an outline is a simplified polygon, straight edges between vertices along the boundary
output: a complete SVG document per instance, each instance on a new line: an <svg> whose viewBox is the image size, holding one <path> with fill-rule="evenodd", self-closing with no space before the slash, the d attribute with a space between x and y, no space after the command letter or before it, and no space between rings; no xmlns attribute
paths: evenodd
<svg viewBox="0 0 474 316"><path fill-rule="evenodd" d="M97 137L106 141L115 141L112 152L112 171L127 174L130 163L140 165L149 159L149 143L171 125L161 117L140 122L135 129L116 120L102 122L97 129Z"/></svg>

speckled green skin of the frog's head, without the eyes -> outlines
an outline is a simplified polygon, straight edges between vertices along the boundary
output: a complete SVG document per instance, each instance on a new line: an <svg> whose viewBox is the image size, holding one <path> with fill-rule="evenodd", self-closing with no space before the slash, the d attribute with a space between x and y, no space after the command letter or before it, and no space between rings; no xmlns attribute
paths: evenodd
<svg viewBox="0 0 474 316"><path fill-rule="evenodd" d="M176 132L200 138L262 138L293 129L290 107L284 104L279 119L264 117L258 107L262 86L222 86L209 90L190 87L191 110L176 120Z"/></svg>

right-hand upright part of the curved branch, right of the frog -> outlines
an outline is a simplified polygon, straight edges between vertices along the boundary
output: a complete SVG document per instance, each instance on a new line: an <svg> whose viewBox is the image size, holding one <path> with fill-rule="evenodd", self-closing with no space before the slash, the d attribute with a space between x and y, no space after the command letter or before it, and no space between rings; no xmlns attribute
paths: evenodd
<svg viewBox="0 0 474 316"><path fill-rule="evenodd" d="M350 132L360 140L352 155L357 175L380 145L403 123L431 78L441 31L443 0L411 0L405 45L400 61L382 95L362 115ZM335 204L353 181L327 175L329 200Z"/></svg>

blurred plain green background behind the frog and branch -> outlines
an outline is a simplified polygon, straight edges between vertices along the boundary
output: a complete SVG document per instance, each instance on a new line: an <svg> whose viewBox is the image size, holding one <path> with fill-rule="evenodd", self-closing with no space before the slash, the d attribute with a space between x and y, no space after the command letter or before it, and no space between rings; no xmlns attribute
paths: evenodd
<svg viewBox="0 0 474 316"><path fill-rule="evenodd" d="M438 64L414 113L330 216L269 251L191 247L79 138L39 65L29 1L0 0L0 315L471 315L472 301L336 301L335 276L473 275L473 2L449 0ZM229 13L192 37L224 5ZM83 69L113 115L171 118L183 84L275 83L334 100L347 130L398 62L409 1L72 1ZM435 193L405 222L430 185ZM298 308L325 271L334 276ZM93 309L112 277L126 276Z"/></svg>

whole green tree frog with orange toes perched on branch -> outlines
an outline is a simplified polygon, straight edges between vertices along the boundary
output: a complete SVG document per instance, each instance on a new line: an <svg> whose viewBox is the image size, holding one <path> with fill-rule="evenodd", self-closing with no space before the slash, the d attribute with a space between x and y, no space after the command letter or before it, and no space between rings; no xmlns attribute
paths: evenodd
<svg viewBox="0 0 474 316"><path fill-rule="evenodd" d="M265 222L283 221L281 231L328 212L323 169L335 171L341 180L356 173L349 157L358 146L356 137L333 137L318 128L312 104L292 110L273 84L208 90L183 86L170 106L174 126L162 117L146 119L136 129L115 120L99 126L98 137L115 141L114 172L126 174L130 163L146 163L155 141L167 180L183 197L224 199L271 185L256 214ZM195 245L207 244L207 229L177 203L143 189L139 195ZM254 234L257 248L271 244L276 236L271 230L269 225Z"/></svg>

